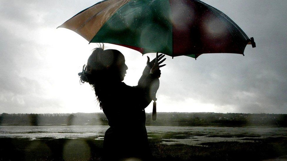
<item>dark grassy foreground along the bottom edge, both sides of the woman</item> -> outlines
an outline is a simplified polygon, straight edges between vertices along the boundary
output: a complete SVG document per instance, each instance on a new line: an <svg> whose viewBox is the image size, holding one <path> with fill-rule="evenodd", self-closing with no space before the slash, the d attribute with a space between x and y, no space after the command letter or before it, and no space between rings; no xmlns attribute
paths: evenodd
<svg viewBox="0 0 287 161"><path fill-rule="evenodd" d="M214 142L199 146L165 145L150 139L154 160L264 160L287 155L287 138L253 142ZM102 160L103 140L0 138L0 160Z"/></svg>

